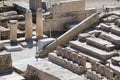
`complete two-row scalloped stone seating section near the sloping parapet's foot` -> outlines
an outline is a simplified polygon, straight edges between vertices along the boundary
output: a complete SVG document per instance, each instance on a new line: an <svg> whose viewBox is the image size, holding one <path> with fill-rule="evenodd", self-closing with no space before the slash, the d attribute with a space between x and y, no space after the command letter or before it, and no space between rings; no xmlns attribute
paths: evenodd
<svg viewBox="0 0 120 80"><path fill-rule="evenodd" d="M66 48L57 47L56 53L49 53L49 60L77 74L86 71L86 58L67 50Z"/></svg>

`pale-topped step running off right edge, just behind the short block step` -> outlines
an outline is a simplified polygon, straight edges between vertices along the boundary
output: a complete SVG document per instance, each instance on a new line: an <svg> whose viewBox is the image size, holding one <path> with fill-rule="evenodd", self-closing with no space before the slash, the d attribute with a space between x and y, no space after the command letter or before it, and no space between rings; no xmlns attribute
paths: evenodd
<svg viewBox="0 0 120 80"><path fill-rule="evenodd" d="M100 38L105 39L107 41L110 41L114 44L120 45L120 37L117 35L114 35L112 33L106 33L106 32L102 32L99 35Z"/></svg>

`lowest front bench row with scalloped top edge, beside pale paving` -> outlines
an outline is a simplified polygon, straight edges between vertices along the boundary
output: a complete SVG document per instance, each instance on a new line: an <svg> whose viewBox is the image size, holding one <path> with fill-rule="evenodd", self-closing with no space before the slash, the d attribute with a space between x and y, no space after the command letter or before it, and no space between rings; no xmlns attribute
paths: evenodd
<svg viewBox="0 0 120 80"><path fill-rule="evenodd" d="M84 66L80 66L77 63L69 61L68 59L65 59L61 56L57 56L56 53L49 53L48 58L50 61L64 68L67 68L68 70L71 70L72 72L75 72L77 74L82 74L86 71L86 68Z"/></svg>

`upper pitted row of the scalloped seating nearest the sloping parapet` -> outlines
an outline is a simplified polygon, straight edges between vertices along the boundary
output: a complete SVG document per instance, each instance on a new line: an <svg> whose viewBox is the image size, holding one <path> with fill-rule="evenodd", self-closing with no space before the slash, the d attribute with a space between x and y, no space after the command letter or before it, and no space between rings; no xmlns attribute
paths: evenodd
<svg viewBox="0 0 120 80"><path fill-rule="evenodd" d="M67 48L61 48L61 47L57 47L57 55L58 56L62 56L68 60L71 60L79 65L82 66L86 66L86 57L76 53L76 52L72 52L71 50L67 49Z"/></svg>

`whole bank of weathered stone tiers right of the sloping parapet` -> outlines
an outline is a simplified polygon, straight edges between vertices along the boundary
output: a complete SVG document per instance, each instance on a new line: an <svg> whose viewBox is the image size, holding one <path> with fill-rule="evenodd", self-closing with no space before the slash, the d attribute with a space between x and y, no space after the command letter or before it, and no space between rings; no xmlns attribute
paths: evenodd
<svg viewBox="0 0 120 80"><path fill-rule="evenodd" d="M67 47L58 46L49 53L48 58L77 74L86 72L87 78L93 80L115 80L116 74L106 64L112 57L119 55L119 34L119 27L101 23L93 30L80 33L78 39L69 41ZM91 64L91 69L87 68L86 63Z"/></svg>

